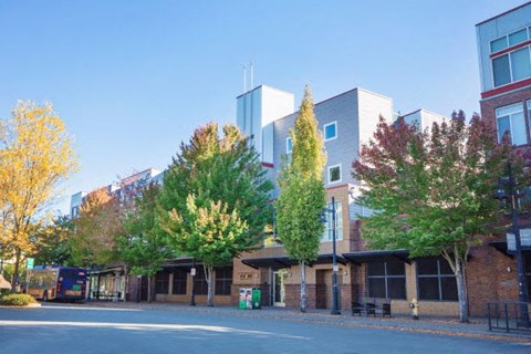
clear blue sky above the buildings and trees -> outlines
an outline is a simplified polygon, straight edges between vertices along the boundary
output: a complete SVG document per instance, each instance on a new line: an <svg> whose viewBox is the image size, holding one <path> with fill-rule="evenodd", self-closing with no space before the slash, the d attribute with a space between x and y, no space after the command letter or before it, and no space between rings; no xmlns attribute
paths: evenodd
<svg viewBox="0 0 531 354"><path fill-rule="evenodd" d="M354 87L394 110L479 112L476 23L511 0L0 0L0 118L52 102L74 138L70 196L164 169L196 127L236 123L254 86L315 102ZM249 75L248 75L249 79ZM249 83L247 84L249 88Z"/></svg>

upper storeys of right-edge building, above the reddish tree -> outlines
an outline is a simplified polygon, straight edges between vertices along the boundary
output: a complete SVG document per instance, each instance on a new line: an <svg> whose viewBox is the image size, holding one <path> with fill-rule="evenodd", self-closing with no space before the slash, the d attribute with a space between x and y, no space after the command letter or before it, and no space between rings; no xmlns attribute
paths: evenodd
<svg viewBox="0 0 531 354"><path fill-rule="evenodd" d="M476 25L481 115L496 123L498 138L531 143L531 2Z"/></svg>

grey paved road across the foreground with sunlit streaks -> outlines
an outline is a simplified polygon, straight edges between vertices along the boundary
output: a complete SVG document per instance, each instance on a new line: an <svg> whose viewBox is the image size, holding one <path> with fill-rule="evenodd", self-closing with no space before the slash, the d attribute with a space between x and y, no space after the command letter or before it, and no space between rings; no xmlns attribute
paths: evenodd
<svg viewBox="0 0 531 354"><path fill-rule="evenodd" d="M0 308L0 353L531 353L529 343L205 312Z"/></svg>

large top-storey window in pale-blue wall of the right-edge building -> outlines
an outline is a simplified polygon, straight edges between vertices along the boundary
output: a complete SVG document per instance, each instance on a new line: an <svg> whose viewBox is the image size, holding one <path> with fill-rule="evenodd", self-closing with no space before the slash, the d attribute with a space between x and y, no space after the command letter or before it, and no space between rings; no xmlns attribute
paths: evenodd
<svg viewBox="0 0 531 354"><path fill-rule="evenodd" d="M492 59L494 87L531 77L530 48L524 46Z"/></svg>

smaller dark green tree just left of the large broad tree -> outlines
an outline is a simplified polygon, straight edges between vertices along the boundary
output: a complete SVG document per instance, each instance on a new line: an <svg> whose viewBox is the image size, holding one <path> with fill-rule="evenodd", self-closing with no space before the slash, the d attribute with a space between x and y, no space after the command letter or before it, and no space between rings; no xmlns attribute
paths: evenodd
<svg viewBox="0 0 531 354"><path fill-rule="evenodd" d="M118 237L118 253L135 275L147 277L147 301L152 301L152 280L173 252L158 227L156 199L159 186L140 187L124 212L124 233Z"/></svg>

